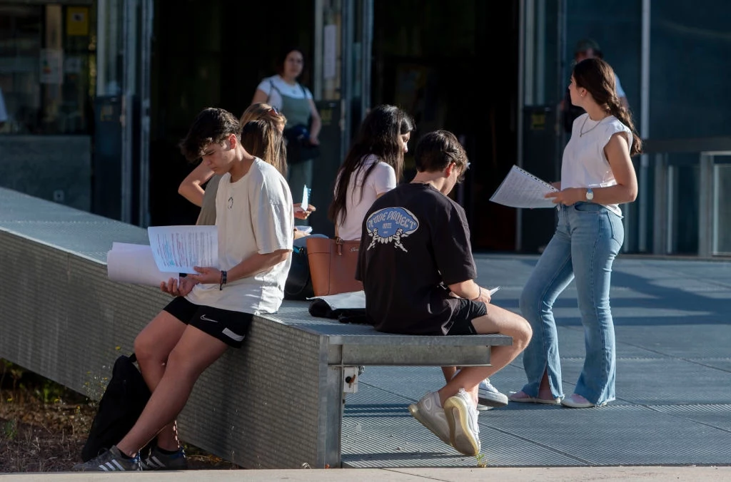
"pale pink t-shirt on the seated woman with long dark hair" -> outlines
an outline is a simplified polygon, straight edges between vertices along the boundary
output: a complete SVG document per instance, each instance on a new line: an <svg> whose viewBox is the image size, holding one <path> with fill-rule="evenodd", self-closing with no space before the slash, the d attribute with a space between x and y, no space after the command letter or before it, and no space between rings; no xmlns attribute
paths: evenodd
<svg viewBox="0 0 731 482"><path fill-rule="evenodd" d="M368 178L363 180L366 171L376 163ZM338 178L338 183L340 179ZM360 231L363 226L363 218L370 209L371 204L378 199L379 194L396 187L396 172L385 162L378 160L371 154L363 161L363 167L350 175L348 183L348 194L345 199L347 214L345 219L338 223L338 236L344 240L360 240ZM337 186L336 186L337 188ZM363 199L360 195L363 193Z"/></svg>

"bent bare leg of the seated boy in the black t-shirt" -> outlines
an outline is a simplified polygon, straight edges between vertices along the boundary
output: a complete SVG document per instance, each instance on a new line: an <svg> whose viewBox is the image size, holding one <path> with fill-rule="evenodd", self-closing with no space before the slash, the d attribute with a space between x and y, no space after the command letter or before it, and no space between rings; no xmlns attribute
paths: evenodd
<svg viewBox="0 0 731 482"><path fill-rule="evenodd" d="M464 367L454 378L439 390L439 401L444 402L459 389L465 389L477 404L477 387L485 378L491 377L512 362L531 340L531 326L524 318L512 311L488 304L488 314L472 320L472 326L479 334L499 333L512 337L512 345L496 346L491 351L491 365L488 367Z"/></svg>

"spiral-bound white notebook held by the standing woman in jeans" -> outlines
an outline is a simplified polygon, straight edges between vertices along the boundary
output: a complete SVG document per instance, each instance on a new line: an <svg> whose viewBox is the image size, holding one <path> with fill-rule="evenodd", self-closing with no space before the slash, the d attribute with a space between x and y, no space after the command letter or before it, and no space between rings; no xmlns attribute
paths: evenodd
<svg viewBox="0 0 731 482"><path fill-rule="evenodd" d="M558 189L545 182L545 180L535 177L518 166L513 166L490 200L510 207L531 209L556 207L551 199L544 197L546 194L556 191Z"/></svg>

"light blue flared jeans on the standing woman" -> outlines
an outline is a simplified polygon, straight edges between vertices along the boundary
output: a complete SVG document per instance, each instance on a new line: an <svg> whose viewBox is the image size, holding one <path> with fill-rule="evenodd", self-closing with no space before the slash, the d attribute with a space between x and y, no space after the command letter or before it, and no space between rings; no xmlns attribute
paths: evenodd
<svg viewBox="0 0 731 482"><path fill-rule="evenodd" d="M556 233L520 295L520 312L533 328L531 342L523 351L526 394L538 396L546 372L553 397L564 397L553 303L576 278L586 359L574 393L596 405L615 399L616 347L609 288L612 264L623 242L621 216L601 204L558 207Z"/></svg>

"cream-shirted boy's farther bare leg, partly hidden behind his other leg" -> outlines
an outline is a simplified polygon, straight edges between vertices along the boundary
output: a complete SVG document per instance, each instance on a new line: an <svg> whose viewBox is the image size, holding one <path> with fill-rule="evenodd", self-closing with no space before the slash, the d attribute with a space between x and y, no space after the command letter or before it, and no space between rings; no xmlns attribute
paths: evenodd
<svg viewBox="0 0 731 482"><path fill-rule="evenodd" d="M167 311L161 311L137 335L135 355L140 364L140 372L151 392L155 391L162 379L167 357L183 336L186 326ZM178 449L180 443L175 421L165 426L157 435L157 446L170 451Z"/></svg>

